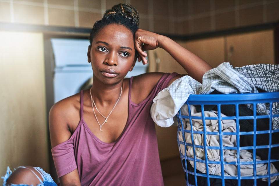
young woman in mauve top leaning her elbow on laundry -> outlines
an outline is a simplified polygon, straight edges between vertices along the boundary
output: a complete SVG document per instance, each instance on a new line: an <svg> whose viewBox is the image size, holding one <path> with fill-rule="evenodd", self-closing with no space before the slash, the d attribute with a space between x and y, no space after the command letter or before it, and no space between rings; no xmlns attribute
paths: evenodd
<svg viewBox="0 0 279 186"><path fill-rule="evenodd" d="M211 66L168 37L138 29L138 25L139 15L133 6L118 4L107 10L89 37L92 88L51 108L52 154L60 185L163 185L149 109L157 93L183 75L124 77L137 60L147 64L144 51L157 47L199 82ZM27 176L26 184L40 184L32 171L43 177L33 167L19 168L7 185L22 183L19 177Z"/></svg>

